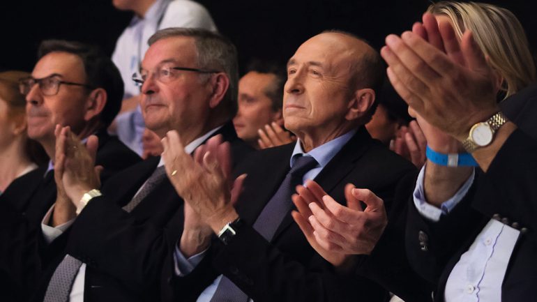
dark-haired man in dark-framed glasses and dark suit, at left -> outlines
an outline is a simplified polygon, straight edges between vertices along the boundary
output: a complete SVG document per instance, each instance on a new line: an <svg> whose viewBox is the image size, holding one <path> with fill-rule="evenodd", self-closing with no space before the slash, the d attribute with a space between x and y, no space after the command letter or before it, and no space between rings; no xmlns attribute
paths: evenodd
<svg viewBox="0 0 537 302"><path fill-rule="evenodd" d="M15 221L0 230L10 255L1 255L1 265L19 287L17 296L35 292L36 283L61 254L75 209L63 190L56 190L54 156L57 124L69 126L78 139L90 135L96 163L103 167L101 181L140 159L106 128L114 119L123 95L123 81L110 59L89 45L60 40L44 41L31 77L20 80L26 96L28 135L36 139L52 159L48 165L13 181L0 202L13 211L3 217ZM97 138L97 139L96 139Z"/></svg>

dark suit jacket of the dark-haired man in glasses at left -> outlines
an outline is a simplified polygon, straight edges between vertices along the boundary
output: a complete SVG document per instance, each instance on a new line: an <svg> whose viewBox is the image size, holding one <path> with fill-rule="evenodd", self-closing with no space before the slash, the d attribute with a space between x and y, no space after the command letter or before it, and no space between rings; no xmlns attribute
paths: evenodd
<svg viewBox="0 0 537 302"><path fill-rule="evenodd" d="M105 169L101 181L105 183L113 174L139 162L136 153L105 131L98 133L99 146L96 164ZM0 196L1 221L0 271L9 275L15 286L6 292L16 292L19 300L27 299L34 292L40 273L63 250L62 240L45 244L41 236L40 222L50 206L56 201L56 183L47 166L25 174L13 181ZM0 273L1 275L1 273ZM3 287L0 285L1 287Z"/></svg>

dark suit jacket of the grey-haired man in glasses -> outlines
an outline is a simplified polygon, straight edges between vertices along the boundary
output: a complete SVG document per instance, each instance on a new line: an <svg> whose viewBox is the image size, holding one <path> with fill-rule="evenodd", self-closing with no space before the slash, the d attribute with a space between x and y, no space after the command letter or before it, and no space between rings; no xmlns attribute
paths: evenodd
<svg viewBox="0 0 537 302"><path fill-rule="evenodd" d="M213 135L230 142L239 161L252 151L228 122ZM71 227L66 253L86 263L84 301L158 301L162 262L183 231L183 199L165 179L138 206L126 205L156 169L150 158L109 179ZM59 257L58 262L63 258ZM55 266L44 278L42 299Z"/></svg>

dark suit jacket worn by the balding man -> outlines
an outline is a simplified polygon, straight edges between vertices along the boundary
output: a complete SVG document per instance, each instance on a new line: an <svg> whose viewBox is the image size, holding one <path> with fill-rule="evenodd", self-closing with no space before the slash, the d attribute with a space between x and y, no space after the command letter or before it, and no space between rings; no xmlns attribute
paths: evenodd
<svg viewBox="0 0 537 302"><path fill-rule="evenodd" d="M237 169L247 173L236 206L245 221L226 246L213 241L194 271L173 278L177 301L195 301L220 274L255 302L382 301L386 292L358 275L338 276L310 247L289 214L269 243L251 227L289 171L294 144L252 154ZM370 188L391 204L398 181L415 167L372 139L361 127L315 178L329 195L345 202L344 188ZM168 264L171 266L172 264Z"/></svg>

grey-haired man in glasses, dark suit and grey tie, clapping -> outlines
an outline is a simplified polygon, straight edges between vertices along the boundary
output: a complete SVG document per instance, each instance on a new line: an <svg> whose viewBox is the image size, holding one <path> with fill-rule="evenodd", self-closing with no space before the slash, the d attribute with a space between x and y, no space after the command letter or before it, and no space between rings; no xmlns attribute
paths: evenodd
<svg viewBox="0 0 537 302"><path fill-rule="evenodd" d="M187 153L221 135L234 159L244 158L252 149L236 136L232 123L238 81L234 45L211 31L178 28L158 31L149 43L133 76L141 85L148 128L160 137L178 131ZM192 217L191 210L183 209L163 160L133 165L101 189L91 181L96 172L90 152L71 139L69 129L58 129L56 135L58 158L64 163L61 183L77 217L67 255L47 275L36 300L160 301L160 282L167 284L161 278L162 263L171 261L181 240L195 239L200 232L196 219L184 221ZM88 156L76 158L70 152L73 146ZM180 170L174 173L182 175Z"/></svg>

